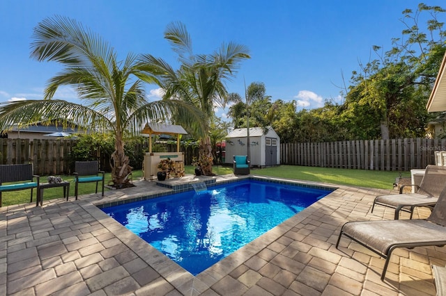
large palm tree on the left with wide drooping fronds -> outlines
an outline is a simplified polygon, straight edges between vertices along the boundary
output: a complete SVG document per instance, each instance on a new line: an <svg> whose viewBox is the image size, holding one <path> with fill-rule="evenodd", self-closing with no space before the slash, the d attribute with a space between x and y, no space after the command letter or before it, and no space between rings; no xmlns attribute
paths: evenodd
<svg viewBox="0 0 446 296"><path fill-rule="evenodd" d="M139 133L146 122L175 116L194 130L203 129L201 111L185 101L146 101L144 81L153 81L139 72L138 56L128 54L118 61L109 44L75 20L44 19L32 37L31 58L56 61L65 67L49 80L43 100L1 104L1 129L10 129L17 122L63 120L84 129L112 131L116 138L111 160L115 186L128 183L126 176L132 171L124 153L125 137ZM82 102L52 99L61 85L73 86Z"/></svg>

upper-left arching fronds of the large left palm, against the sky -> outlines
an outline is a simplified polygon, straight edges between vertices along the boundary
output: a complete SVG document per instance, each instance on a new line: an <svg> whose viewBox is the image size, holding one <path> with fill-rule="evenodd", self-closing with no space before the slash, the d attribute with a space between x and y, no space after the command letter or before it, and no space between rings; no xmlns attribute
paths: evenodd
<svg viewBox="0 0 446 296"><path fill-rule="evenodd" d="M54 17L40 22L32 37L35 41L31 43L31 58L54 60L67 66L49 81L45 99L51 99L63 84L76 85L79 97L97 99L105 97L101 93L107 92L108 96L113 93L116 54L98 35L73 19Z"/></svg>

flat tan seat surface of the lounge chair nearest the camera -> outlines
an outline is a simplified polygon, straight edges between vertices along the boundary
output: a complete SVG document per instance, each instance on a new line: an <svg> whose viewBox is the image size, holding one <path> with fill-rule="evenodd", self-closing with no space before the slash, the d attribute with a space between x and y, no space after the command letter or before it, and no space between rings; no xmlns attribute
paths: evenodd
<svg viewBox="0 0 446 296"><path fill-rule="evenodd" d="M348 222L342 228L348 236L359 240L383 254L392 245L410 245L417 242L445 242L446 229L426 220L390 220ZM429 244L424 244L429 245Z"/></svg>

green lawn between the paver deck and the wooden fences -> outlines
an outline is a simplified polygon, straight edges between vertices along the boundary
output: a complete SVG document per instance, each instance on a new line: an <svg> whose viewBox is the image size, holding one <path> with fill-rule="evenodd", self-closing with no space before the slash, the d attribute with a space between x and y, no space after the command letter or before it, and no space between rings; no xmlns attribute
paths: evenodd
<svg viewBox="0 0 446 296"><path fill-rule="evenodd" d="M213 172L217 175L231 174L232 167L222 165L213 166ZM185 166L186 174L194 174L192 165ZM368 188L392 189L395 178L399 172L382 172L370 170L346 170L333 169L327 167L302 167L297 165L280 165L279 167L268 167L251 170L252 174L260 176L273 176L286 179L303 181L317 181L323 183L333 183L347 186L361 186ZM410 176L409 172L403 172L403 176ZM73 176L61 176L64 181L70 181L70 199L74 199L75 182ZM133 172L133 179L142 177L141 170ZM105 174L105 184L112 179L111 174ZM46 176L40 176L40 183L46 183ZM105 188L107 191L108 189ZM36 202L37 190L33 190L33 202ZM84 183L79 186L79 195L95 192L95 183ZM2 206L13 204L25 204L29 202L30 190L19 190L3 192ZM43 191L43 199L55 199L63 197L63 188L47 188Z"/></svg>

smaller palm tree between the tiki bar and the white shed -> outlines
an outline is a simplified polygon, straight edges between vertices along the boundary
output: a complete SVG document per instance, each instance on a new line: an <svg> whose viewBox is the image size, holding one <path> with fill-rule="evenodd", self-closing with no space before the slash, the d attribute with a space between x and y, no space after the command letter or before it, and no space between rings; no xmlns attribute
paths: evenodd
<svg viewBox="0 0 446 296"><path fill-rule="evenodd" d="M248 49L240 44L222 44L213 54L193 54L192 40L184 24L172 23L164 33L178 54L180 67L174 70L161 58L144 55L140 69L146 71L165 92L164 99L181 99L197 106L204 114L205 133L200 139L199 159L206 175L212 174L212 146L209 138L210 122L215 118L215 107L229 102L226 81L232 79L240 62L249 57ZM206 163L206 165L204 165Z"/></svg>

